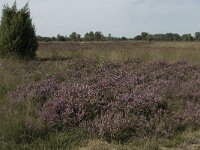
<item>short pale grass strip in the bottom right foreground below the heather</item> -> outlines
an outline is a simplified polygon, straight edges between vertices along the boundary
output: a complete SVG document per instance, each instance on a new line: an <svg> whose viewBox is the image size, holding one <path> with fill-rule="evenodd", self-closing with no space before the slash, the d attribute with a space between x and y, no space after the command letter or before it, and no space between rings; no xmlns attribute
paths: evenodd
<svg viewBox="0 0 200 150"><path fill-rule="evenodd" d="M187 130L183 134L163 139L135 139L126 144L108 143L104 140L90 140L83 150L199 150L199 131Z"/></svg>

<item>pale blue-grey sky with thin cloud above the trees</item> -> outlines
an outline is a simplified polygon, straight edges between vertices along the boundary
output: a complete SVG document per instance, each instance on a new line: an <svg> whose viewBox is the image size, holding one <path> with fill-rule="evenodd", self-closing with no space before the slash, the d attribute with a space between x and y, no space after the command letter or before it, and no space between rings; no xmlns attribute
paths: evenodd
<svg viewBox="0 0 200 150"><path fill-rule="evenodd" d="M0 0L12 5L14 0ZM27 0L17 0L18 8ZM56 36L89 31L134 37L145 31L200 31L200 0L29 0L37 35ZM0 16L2 12L0 12Z"/></svg>

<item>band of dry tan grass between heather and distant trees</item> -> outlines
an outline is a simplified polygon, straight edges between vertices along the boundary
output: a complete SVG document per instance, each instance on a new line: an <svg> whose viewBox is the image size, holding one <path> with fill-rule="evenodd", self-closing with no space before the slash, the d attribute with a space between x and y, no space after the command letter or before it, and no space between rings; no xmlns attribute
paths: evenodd
<svg viewBox="0 0 200 150"><path fill-rule="evenodd" d="M40 43L38 57L42 59L86 57L112 61L137 59L143 62L165 60L199 64L200 42Z"/></svg>

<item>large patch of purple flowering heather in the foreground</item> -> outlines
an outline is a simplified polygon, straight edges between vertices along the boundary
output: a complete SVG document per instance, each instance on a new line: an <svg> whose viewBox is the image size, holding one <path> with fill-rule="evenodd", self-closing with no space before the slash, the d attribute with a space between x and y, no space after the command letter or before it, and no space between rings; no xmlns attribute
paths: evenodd
<svg viewBox="0 0 200 150"><path fill-rule="evenodd" d="M86 127L107 140L171 136L200 125L199 66L130 61L94 69L90 64L69 65L66 74L83 69L69 81L48 77L12 96L33 102L32 110L49 128Z"/></svg>

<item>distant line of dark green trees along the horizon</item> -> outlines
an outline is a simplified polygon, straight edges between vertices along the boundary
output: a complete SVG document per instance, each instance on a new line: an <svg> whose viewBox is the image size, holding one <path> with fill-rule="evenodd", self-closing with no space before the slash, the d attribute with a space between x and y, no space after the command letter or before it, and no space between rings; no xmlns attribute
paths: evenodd
<svg viewBox="0 0 200 150"><path fill-rule="evenodd" d="M194 36L192 34L179 35L177 33L166 33L166 34L149 34L142 32L135 38L127 37L113 37L111 34L108 36L103 35L102 32L88 32L81 37L80 34L72 32L69 36L58 34L56 37L42 37L37 36L38 41L50 42L50 41L125 41L125 40L138 40L138 41L200 41L200 32L196 32Z"/></svg>

